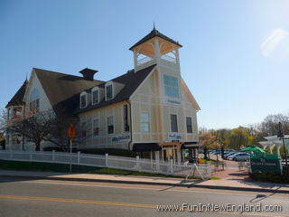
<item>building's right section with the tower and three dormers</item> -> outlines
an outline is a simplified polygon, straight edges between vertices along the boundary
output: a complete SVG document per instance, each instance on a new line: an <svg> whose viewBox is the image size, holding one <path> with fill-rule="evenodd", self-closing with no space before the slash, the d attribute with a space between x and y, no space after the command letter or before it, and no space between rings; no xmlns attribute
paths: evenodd
<svg viewBox="0 0 289 217"><path fill-rule="evenodd" d="M135 69L79 95L82 148L113 147L182 160L198 146L197 111L180 69L182 47L157 30L136 42Z"/></svg>

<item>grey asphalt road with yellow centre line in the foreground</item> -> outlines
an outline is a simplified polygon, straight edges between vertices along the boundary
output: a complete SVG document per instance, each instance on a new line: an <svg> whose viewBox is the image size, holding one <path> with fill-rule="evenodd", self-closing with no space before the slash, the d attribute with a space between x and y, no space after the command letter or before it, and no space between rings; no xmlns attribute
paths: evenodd
<svg viewBox="0 0 289 217"><path fill-rule="evenodd" d="M190 212L182 203L278 205L282 212ZM160 212L157 205L180 205ZM183 187L17 180L0 177L0 216L289 216L289 195ZM272 208L272 207L266 207ZM189 209L190 206L189 206ZM240 209L240 208L239 208Z"/></svg>

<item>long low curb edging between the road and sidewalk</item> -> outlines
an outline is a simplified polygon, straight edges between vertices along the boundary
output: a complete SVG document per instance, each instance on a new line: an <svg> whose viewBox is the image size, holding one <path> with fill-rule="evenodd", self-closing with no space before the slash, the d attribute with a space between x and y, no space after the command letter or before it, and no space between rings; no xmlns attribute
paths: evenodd
<svg viewBox="0 0 289 217"><path fill-rule="evenodd" d="M115 183L115 184L149 184L149 185L164 185L185 188L206 188L216 190L233 190L243 192L262 192L262 193L289 193L289 190L282 189L266 189L266 188L247 188L247 187L232 187L218 185L203 185L203 184L170 184L170 183L155 183L143 181L126 181L126 180L110 180L110 179L89 179L89 178L70 178L70 177L47 177L34 175L0 175L5 178L20 178L20 179L43 179L43 180L59 180L59 181L74 181L74 182L90 182L90 183Z"/></svg>

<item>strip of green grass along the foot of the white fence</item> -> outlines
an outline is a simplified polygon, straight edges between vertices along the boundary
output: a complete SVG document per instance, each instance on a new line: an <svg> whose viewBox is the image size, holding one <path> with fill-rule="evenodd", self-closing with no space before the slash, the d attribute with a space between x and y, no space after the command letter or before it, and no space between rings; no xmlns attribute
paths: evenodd
<svg viewBox="0 0 289 217"><path fill-rule="evenodd" d="M0 169L70 173L70 165L39 163L39 162L6 161L6 160L0 160ZM104 167L93 167L93 166L86 166L86 165L72 165L72 173L75 173L75 174L79 174L79 173L81 173L81 174L102 174L102 175L143 175L143 176L154 176L154 177L178 177L178 176L172 176L172 175L140 173L140 172L136 172L136 171L128 171L128 170L104 168ZM179 177L181 177L181 176L179 176Z"/></svg>

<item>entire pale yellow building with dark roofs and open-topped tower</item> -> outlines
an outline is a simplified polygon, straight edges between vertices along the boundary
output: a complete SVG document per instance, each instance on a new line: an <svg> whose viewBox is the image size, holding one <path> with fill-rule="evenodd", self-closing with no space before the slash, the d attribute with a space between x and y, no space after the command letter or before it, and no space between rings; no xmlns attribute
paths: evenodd
<svg viewBox="0 0 289 217"><path fill-rule="evenodd" d="M183 149L198 146L200 110L182 80L180 48L153 29L130 48L134 70L102 81L88 68L79 71L82 77L33 69L18 98L26 111L34 105L36 112L53 109L56 116L78 117L81 150L120 148L180 162ZM7 105L16 107L13 100ZM11 139L6 145L15 146Z"/></svg>

